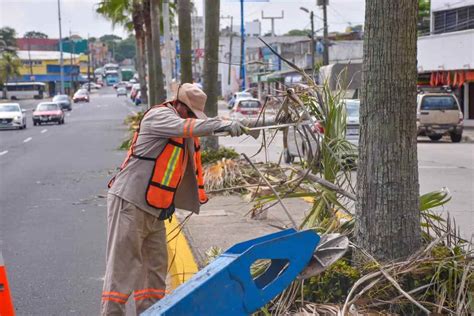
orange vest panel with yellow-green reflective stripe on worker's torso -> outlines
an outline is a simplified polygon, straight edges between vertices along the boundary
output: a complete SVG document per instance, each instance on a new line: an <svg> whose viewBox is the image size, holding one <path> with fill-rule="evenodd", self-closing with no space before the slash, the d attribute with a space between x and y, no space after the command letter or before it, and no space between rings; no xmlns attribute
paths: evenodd
<svg viewBox="0 0 474 316"><path fill-rule="evenodd" d="M171 138L155 160L146 192L150 206L166 209L173 205L183 174L184 138Z"/></svg>

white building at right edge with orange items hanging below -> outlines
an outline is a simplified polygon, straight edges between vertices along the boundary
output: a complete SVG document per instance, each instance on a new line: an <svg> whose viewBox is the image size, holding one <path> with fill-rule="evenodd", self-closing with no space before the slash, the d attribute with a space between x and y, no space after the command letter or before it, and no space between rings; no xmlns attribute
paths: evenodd
<svg viewBox="0 0 474 316"><path fill-rule="evenodd" d="M418 38L418 84L449 86L474 120L474 0L432 0L430 25Z"/></svg>

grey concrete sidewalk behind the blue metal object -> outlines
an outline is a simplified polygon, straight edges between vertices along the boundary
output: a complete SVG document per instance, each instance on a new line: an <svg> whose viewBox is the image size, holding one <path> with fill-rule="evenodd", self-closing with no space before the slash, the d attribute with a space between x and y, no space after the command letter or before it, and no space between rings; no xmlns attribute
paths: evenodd
<svg viewBox="0 0 474 316"><path fill-rule="evenodd" d="M305 212L311 205L300 198L283 200L291 216L300 224ZM184 234L191 246L195 260L200 268L205 266L206 251L219 247L225 251L230 246L272 232L278 227L291 227L291 222L280 204L268 210L267 219L251 219L246 215L253 202L245 201L240 195L215 195L201 207L199 215L193 214L184 226ZM177 217L182 221L188 212L178 211ZM271 226L275 225L275 226Z"/></svg>

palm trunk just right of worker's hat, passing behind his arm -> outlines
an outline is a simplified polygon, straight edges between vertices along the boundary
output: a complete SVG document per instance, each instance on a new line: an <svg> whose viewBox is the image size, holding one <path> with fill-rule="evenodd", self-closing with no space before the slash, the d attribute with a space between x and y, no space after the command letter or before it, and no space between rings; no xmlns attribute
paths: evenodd
<svg viewBox="0 0 474 316"><path fill-rule="evenodd" d="M220 0L208 0L205 7L205 33L204 33L204 92L207 94L205 113L209 117L217 116L217 70L219 54L219 10ZM217 150L219 141L217 137L206 137L203 141L204 148Z"/></svg>

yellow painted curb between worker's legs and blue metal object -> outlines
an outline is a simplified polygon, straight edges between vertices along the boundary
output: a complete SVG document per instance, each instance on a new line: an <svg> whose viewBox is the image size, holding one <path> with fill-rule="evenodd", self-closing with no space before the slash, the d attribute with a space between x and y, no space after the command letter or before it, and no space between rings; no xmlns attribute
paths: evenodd
<svg viewBox="0 0 474 316"><path fill-rule="evenodd" d="M199 269L175 215L171 222L165 221L165 227L168 245L168 277L171 280L170 290L172 291L189 280Z"/></svg>

